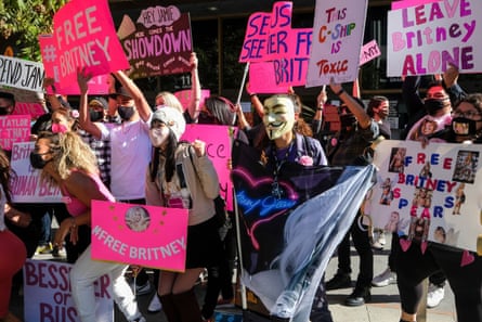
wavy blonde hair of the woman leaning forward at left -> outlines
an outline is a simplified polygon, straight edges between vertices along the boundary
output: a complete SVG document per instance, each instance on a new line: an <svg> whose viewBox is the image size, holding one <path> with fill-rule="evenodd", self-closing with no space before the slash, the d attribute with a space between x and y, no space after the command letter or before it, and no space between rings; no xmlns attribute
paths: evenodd
<svg viewBox="0 0 482 322"><path fill-rule="evenodd" d="M67 179L71 170L81 170L87 173L99 173L97 159L90 146L75 132L52 133L40 132L37 141L50 141L50 151L53 163L62 179ZM41 179L53 182L53 178L42 171Z"/></svg>

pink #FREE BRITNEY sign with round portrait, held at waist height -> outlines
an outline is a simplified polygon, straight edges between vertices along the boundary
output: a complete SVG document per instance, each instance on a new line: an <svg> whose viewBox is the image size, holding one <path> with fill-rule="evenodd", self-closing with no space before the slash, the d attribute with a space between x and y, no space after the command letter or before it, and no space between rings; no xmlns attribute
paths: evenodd
<svg viewBox="0 0 482 322"><path fill-rule="evenodd" d="M184 271L187 209L92 201L92 258Z"/></svg>

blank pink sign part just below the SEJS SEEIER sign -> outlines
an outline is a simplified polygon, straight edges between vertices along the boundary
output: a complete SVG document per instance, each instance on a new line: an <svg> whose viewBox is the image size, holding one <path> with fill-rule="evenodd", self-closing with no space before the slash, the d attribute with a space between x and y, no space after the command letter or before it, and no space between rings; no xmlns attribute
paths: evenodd
<svg viewBox="0 0 482 322"><path fill-rule="evenodd" d="M278 86L274 62L249 64L249 91L255 93L287 93L287 86Z"/></svg>

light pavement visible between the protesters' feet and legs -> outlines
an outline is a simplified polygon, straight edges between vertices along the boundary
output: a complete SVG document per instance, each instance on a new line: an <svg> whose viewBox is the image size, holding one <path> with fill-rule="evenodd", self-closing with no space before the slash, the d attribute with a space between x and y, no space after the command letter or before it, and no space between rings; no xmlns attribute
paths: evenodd
<svg viewBox="0 0 482 322"><path fill-rule="evenodd" d="M387 268L388 255L389 255L389 246L390 245L390 236L387 236L387 249L383 250L375 250L375 259L374 259L374 270L375 275L381 273ZM34 259L41 260L58 260L53 258L51 255L36 255ZM356 252L352 247L352 283L354 284L354 279L357 275L357 267L359 267L359 257ZM337 270L337 257L335 256L327 268L326 271L326 280L329 280ZM206 285L200 283L196 285L195 291L198 295L198 299L203 299L204 292L206 289ZM237 292L239 292L237 289ZM360 307L346 307L342 305L344 298L352 292L352 288L341 288L328 291L328 301L329 309L331 311L333 318L335 322L398 322L400 320L400 297L396 284L391 284L385 287L373 287L372 288L372 301L365 304ZM149 295L138 296L138 302L141 311L144 313L147 322L167 322L162 312L158 312L155 314L147 312L147 306L152 296L154 295L154 291ZM24 304L28 304L28 299L24 299L18 294L14 294L11 299L11 311L15 313L18 318L23 320L24 315ZM126 319L117 309L115 309L115 322L127 322ZM234 321L227 318L220 319L221 313L223 314L237 314L240 315L243 310L238 307L231 310L218 310L218 319L217 322L222 321ZM250 320L258 322L257 320ZM260 319L261 321L268 321L265 319ZM455 313L455 304L454 304L454 295L448 287L445 286L445 298L442 302L432 309L426 310L426 317L418 317L418 322L455 322L456 313ZM25 321L25 322L39 322L39 321ZM48 321L48 322L63 322L63 321Z"/></svg>

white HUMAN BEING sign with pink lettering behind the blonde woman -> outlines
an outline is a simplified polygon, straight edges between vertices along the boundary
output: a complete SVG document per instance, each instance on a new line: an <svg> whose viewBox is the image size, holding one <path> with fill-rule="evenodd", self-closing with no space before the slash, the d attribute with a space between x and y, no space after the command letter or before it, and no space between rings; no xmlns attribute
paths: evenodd
<svg viewBox="0 0 482 322"><path fill-rule="evenodd" d="M11 166L15 176L11 180L14 203L61 203L62 195L57 185L40 181L40 170L30 166L30 152L35 142L14 143Z"/></svg>

